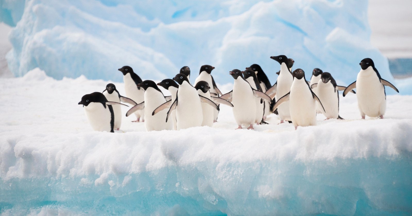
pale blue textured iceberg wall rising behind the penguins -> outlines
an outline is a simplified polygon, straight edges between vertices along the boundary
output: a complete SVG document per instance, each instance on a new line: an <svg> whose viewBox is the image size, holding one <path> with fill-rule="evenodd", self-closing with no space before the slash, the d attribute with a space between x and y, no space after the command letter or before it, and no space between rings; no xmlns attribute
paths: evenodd
<svg viewBox="0 0 412 216"><path fill-rule="evenodd" d="M366 0L26 0L0 7L9 12L0 19L16 24L8 61L18 76L39 67L57 79L121 81L117 68L130 65L143 79L162 79L184 65L197 74L211 64L216 81L227 83L228 71L259 63L274 82L279 64L269 56L286 54L307 79L319 67L349 84L370 57L392 81L387 59L370 44Z"/></svg>

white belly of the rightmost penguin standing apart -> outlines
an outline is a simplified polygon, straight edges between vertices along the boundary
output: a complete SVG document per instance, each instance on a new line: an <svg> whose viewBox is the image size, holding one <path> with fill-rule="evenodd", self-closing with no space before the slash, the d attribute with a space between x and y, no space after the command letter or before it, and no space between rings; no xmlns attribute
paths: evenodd
<svg viewBox="0 0 412 216"><path fill-rule="evenodd" d="M356 79L356 96L361 115L370 117L384 115L386 111L385 90L372 67L361 70Z"/></svg>

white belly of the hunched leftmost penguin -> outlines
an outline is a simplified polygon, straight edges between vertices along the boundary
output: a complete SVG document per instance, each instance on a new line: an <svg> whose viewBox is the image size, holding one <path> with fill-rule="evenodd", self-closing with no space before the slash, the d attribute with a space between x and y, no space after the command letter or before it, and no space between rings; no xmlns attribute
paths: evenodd
<svg viewBox="0 0 412 216"><path fill-rule="evenodd" d="M110 132L112 118L108 105L104 108L101 103L91 102L89 105L84 106L84 111L93 130Z"/></svg>

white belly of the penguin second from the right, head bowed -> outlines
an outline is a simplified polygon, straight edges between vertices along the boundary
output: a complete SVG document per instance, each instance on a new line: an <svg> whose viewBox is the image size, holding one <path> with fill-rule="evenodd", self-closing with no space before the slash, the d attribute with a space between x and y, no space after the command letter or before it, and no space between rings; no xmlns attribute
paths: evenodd
<svg viewBox="0 0 412 216"><path fill-rule="evenodd" d="M318 82L317 96L321 101L323 108L326 112L321 112L326 118L337 118L339 116L339 102L338 102L338 92L335 91L332 83ZM322 110L319 103L316 102L316 107L318 110Z"/></svg>

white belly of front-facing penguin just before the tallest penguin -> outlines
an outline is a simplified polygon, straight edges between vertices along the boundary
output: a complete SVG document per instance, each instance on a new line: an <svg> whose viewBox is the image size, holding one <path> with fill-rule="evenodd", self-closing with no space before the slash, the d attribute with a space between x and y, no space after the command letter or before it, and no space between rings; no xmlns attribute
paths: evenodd
<svg viewBox="0 0 412 216"><path fill-rule="evenodd" d="M316 125L316 104L304 78L293 82L289 95L290 117L295 127Z"/></svg>

